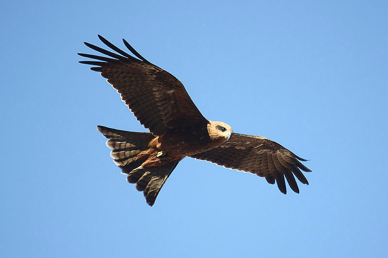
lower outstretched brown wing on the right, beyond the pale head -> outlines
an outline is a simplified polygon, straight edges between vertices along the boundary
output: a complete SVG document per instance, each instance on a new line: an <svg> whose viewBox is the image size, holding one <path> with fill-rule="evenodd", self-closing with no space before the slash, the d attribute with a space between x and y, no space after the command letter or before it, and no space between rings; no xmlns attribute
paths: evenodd
<svg viewBox="0 0 388 258"><path fill-rule="evenodd" d="M276 181L277 187L283 194L287 193L284 176L291 189L299 193L294 175L300 182L308 184L300 169L311 172L300 163L307 160L296 156L280 144L260 136L233 134L220 147L191 157L257 174L259 177L265 177L270 184Z"/></svg>

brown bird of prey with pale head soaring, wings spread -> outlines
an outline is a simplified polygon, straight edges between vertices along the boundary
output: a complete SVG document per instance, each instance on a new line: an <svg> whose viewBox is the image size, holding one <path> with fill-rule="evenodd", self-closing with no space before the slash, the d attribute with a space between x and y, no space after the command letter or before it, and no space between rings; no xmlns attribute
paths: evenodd
<svg viewBox="0 0 388 258"><path fill-rule="evenodd" d="M109 139L114 163L128 182L144 192L148 205L155 203L163 184L186 156L265 177L270 184L276 182L283 194L284 178L296 193L294 175L308 184L300 171L311 171L300 162L307 160L265 137L233 133L224 122L207 120L176 77L147 61L126 40L124 45L133 56L98 37L116 53L85 42L108 57L79 53L93 59L80 63L93 65L91 70L107 78L149 133L104 126L97 130Z"/></svg>

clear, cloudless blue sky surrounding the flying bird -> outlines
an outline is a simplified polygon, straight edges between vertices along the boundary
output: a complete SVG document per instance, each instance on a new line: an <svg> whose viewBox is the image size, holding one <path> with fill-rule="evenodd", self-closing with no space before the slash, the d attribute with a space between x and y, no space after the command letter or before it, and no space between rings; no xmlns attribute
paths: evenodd
<svg viewBox="0 0 388 258"><path fill-rule="evenodd" d="M385 257L386 1L5 1L1 257ZM101 34L175 75L202 114L275 140L300 194L190 158L153 207L97 124L146 129L79 64Z"/></svg>

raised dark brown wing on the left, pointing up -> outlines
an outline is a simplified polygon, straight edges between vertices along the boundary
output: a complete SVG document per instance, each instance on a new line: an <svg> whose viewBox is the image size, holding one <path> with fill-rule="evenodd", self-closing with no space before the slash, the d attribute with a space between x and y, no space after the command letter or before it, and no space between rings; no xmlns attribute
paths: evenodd
<svg viewBox="0 0 388 258"><path fill-rule="evenodd" d="M110 58L79 53L82 57L99 60L80 63L96 65L90 69L101 72L101 76L108 79L137 120L153 135L160 136L183 125L207 122L176 77L147 61L124 39L124 45L138 59L102 36L98 37L118 54L85 42L86 46Z"/></svg>

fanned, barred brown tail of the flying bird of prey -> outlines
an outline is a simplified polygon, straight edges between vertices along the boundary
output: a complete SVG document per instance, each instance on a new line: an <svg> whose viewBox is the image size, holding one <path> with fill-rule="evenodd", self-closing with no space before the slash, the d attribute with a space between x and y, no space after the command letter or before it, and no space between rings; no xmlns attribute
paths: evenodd
<svg viewBox="0 0 388 258"><path fill-rule="evenodd" d="M127 181L136 183L136 189L143 191L148 205L154 205L162 186L180 160L164 166L143 167L141 165L146 158L137 160L137 155L148 149L149 141L154 138L151 133L128 132L100 125L97 130L109 139L106 145L112 149L114 163L122 169L123 174L128 175Z"/></svg>

